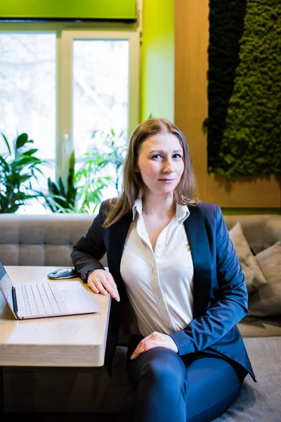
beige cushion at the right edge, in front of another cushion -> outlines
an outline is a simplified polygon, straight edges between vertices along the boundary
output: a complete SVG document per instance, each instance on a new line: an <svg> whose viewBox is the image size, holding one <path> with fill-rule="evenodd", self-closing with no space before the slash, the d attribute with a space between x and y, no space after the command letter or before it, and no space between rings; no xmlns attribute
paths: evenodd
<svg viewBox="0 0 281 422"><path fill-rule="evenodd" d="M249 315L281 315L281 242L259 252L256 261L268 283L249 295Z"/></svg>

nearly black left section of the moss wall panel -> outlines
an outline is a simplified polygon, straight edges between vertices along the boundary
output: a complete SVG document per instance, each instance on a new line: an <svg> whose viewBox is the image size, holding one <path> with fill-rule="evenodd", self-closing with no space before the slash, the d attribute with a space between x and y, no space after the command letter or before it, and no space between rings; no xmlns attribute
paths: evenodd
<svg viewBox="0 0 281 422"><path fill-rule="evenodd" d="M215 172L244 30L246 0L210 0L208 71L208 166Z"/></svg>

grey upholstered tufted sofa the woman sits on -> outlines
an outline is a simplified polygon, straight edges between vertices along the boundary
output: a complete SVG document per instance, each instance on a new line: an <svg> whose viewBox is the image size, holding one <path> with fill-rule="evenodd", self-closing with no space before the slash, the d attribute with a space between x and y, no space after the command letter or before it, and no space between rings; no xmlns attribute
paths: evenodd
<svg viewBox="0 0 281 422"><path fill-rule="evenodd" d="M251 250L281 241L280 215L225 216L228 229L240 222ZM92 215L0 215L0 260L4 265L72 265L72 245ZM103 258L106 266L106 257ZM281 315L247 316L239 324L256 373L216 422L281 421ZM91 335L91 333L89 333ZM131 396L124 367L126 347L117 347L112 378L105 368L13 368L4 371L6 411L117 414Z"/></svg>

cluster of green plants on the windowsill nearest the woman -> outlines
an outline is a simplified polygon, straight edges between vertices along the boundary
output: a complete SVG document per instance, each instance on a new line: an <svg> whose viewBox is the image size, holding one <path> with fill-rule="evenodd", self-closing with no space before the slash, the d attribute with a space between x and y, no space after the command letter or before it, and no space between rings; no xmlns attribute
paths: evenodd
<svg viewBox="0 0 281 422"><path fill-rule="evenodd" d="M103 200L103 191L114 186L119 193L119 180L126 153L122 132L117 135L95 131L92 134L95 146L75 163L74 151L70 156L67 185L60 178L58 182L48 179L46 204L52 212L95 212ZM75 170L77 168L77 170Z"/></svg>

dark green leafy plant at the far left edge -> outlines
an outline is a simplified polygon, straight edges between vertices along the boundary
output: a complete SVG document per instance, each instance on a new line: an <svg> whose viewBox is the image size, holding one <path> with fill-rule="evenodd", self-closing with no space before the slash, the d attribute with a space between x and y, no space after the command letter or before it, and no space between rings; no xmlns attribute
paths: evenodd
<svg viewBox="0 0 281 422"><path fill-rule="evenodd" d="M42 196L34 185L37 174L43 174L40 167L45 161L34 155L38 149L30 148L34 141L27 134L20 134L12 145L2 136L8 152L0 155L0 212L16 212L31 199Z"/></svg>

